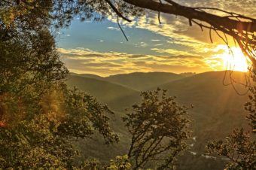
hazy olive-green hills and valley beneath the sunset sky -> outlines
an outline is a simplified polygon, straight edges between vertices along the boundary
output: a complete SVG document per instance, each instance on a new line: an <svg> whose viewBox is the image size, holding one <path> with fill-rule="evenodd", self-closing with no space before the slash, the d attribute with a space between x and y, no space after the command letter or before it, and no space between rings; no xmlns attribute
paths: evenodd
<svg viewBox="0 0 256 170"><path fill-rule="evenodd" d="M76 86L117 111L112 123L114 129L121 136L120 144L107 148L99 147L99 143L93 147L85 142L83 148L86 150L85 146L87 146L87 151L84 152L84 156L94 154L93 156L100 159L109 159L109 156L124 154L124 150L129 144L129 136L120 119L125 113L124 109L131 108L134 103L140 102L140 91L155 90L160 87L168 90L169 96L176 96L181 105L187 105L187 107L194 105L194 108L189 111L190 118L193 120L191 130L194 136L194 144L190 151L196 155L193 161L186 156L182 157L183 162L186 162L187 165L181 165L180 168L218 169L215 159L209 161L200 156L204 153L207 141L224 138L234 128L247 125L243 105L247 101L248 95L239 96L236 93L236 90L241 93L245 92L245 87L239 83L234 84L236 90L231 85L224 86L224 83L230 83L230 77L227 76L224 80L224 75L224 71L189 74L189 76L166 72L117 74L109 77L99 77L94 74L70 74L66 81L69 87ZM230 74L227 73L227 75ZM232 78L237 82L244 82L244 73L233 72ZM105 154L97 153L96 149L99 150L99 148L102 148L102 153ZM107 153L109 150L112 150L111 155ZM219 165L221 167L223 163Z"/></svg>

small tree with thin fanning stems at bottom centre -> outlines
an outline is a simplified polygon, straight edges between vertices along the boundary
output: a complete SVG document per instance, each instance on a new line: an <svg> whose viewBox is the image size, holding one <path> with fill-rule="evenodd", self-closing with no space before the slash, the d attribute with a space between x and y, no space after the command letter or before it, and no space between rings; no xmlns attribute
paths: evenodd
<svg viewBox="0 0 256 170"><path fill-rule="evenodd" d="M143 92L142 103L123 117L132 136L128 157L134 170L172 169L175 158L187 148L189 138L187 108L178 105L166 90ZM152 163L155 163L152 165Z"/></svg>

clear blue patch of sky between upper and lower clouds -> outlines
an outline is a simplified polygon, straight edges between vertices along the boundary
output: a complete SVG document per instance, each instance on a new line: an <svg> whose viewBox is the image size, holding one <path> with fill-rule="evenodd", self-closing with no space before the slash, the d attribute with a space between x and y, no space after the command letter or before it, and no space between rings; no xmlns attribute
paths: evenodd
<svg viewBox="0 0 256 170"><path fill-rule="evenodd" d="M80 22L75 20L69 29L62 29L61 36L57 39L59 47L62 48L88 48L100 53L115 51L120 53L132 54L151 54L160 55L151 48L175 48L178 50L189 50L181 44L169 44L167 41L175 41L175 38L169 38L151 32L147 29L139 29L135 26L122 26L123 31L128 37L126 41L117 23L104 20L101 23ZM162 54L161 54L162 55ZM164 53L168 55L168 53Z"/></svg>

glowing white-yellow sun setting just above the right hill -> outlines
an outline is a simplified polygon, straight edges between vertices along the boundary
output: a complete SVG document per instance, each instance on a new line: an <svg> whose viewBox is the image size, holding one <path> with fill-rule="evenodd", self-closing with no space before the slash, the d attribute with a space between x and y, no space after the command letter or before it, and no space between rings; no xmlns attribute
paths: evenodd
<svg viewBox="0 0 256 170"><path fill-rule="evenodd" d="M223 60L223 67L227 70L233 71L248 71L248 60L242 53L242 50L237 47L231 47L233 54L229 52L228 48L225 47L224 53L221 54Z"/></svg>

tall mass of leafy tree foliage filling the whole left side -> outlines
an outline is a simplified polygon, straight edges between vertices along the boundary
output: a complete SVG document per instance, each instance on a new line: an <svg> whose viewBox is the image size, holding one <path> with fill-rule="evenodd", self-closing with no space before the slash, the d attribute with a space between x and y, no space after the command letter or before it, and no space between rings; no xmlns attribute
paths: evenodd
<svg viewBox="0 0 256 170"><path fill-rule="evenodd" d="M34 6L35 5L35 6ZM77 150L72 140L96 131L107 144L108 107L63 78L50 33L51 1L0 2L0 167L4 169L72 168Z"/></svg>

